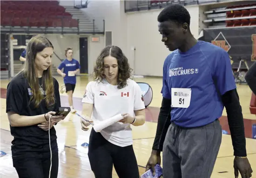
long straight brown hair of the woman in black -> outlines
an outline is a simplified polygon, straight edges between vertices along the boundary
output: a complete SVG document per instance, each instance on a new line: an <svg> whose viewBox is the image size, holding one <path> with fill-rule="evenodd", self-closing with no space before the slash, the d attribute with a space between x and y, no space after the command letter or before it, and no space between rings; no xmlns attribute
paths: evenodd
<svg viewBox="0 0 256 178"><path fill-rule="evenodd" d="M21 73L24 74L25 78L28 81L28 85L32 90L31 100L34 102L34 105L38 107L42 99L45 99L47 106L54 104L54 84L52 77L51 66L43 72L42 81L43 88L46 92L46 97L43 98L43 95L39 88L39 81L35 74L35 58L36 54L43 51L46 47L52 47L52 43L44 36L36 35L30 39L27 45L26 52L26 62L25 66L21 70Z"/></svg>

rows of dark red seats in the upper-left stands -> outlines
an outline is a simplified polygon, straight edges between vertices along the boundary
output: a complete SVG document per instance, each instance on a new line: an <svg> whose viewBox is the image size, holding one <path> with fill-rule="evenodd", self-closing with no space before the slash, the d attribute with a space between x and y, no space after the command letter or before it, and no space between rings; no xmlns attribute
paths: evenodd
<svg viewBox="0 0 256 178"><path fill-rule="evenodd" d="M1 0L1 26L78 27L57 0Z"/></svg>

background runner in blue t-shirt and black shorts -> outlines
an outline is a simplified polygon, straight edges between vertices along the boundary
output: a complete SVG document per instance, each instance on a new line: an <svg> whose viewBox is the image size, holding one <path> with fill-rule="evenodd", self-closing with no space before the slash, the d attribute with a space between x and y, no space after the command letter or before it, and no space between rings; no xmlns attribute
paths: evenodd
<svg viewBox="0 0 256 178"><path fill-rule="evenodd" d="M75 113L73 106L73 93L76 84L76 73L80 70L80 64L77 60L73 59L73 50L71 47L65 49L65 56L67 59L63 60L57 69L59 73L64 78L65 86L61 86L61 93L67 92L68 103L71 108L71 113ZM63 73L61 70L64 68Z"/></svg>

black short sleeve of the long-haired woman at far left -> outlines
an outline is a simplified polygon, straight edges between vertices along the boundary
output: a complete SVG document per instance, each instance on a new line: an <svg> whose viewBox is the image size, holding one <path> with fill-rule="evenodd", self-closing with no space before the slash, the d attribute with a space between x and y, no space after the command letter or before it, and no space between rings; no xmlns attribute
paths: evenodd
<svg viewBox="0 0 256 178"><path fill-rule="evenodd" d="M22 82L13 78L7 85L6 112L15 112L20 115L23 107L24 86Z"/></svg>

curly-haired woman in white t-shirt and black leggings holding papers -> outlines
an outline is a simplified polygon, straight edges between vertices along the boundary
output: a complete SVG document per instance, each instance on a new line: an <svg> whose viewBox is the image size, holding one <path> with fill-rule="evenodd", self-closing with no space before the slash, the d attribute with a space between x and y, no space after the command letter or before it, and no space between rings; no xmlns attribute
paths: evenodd
<svg viewBox="0 0 256 178"><path fill-rule="evenodd" d="M105 47L82 99L82 114L94 124L119 113L124 118L101 132L91 131L88 157L96 178L112 178L113 165L119 178L140 178L130 125L145 123L145 105L131 71L119 47ZM88 130L88 122L81 119L81 125Z"/></svg>

